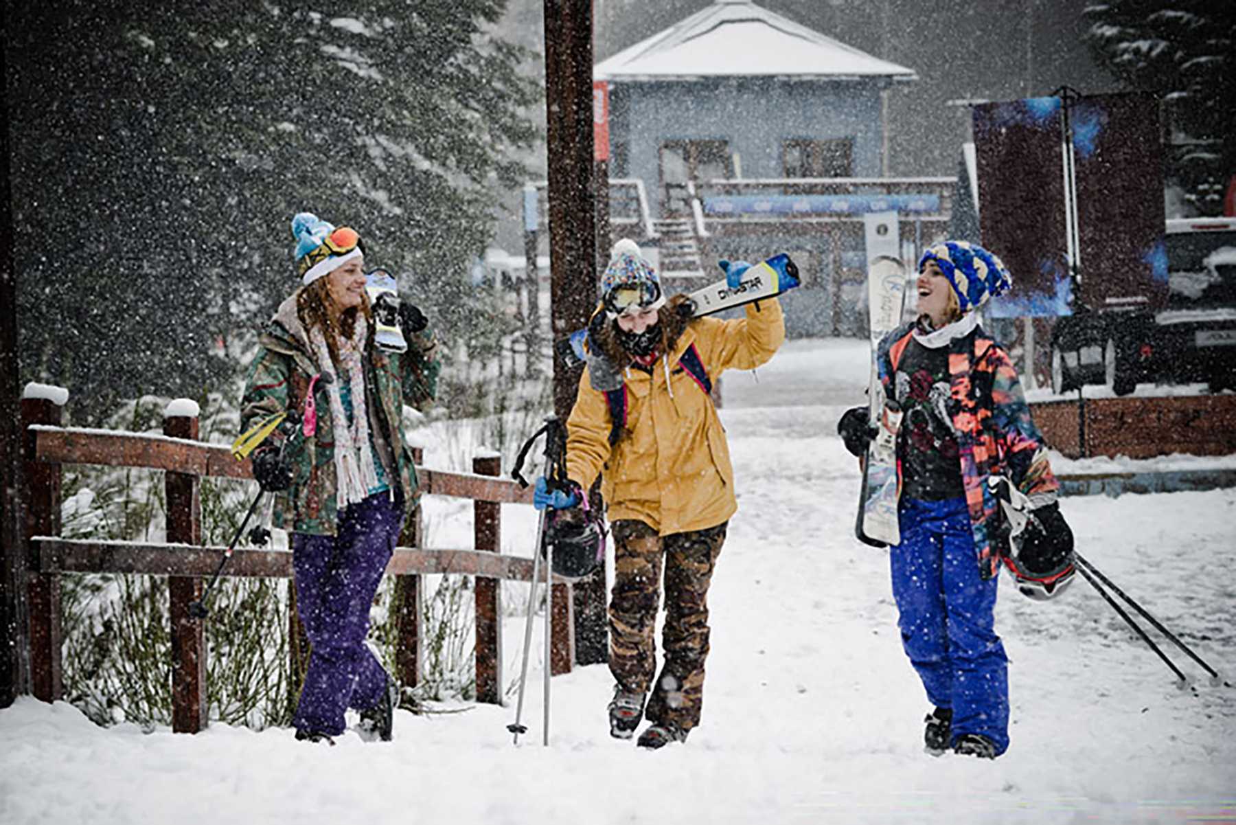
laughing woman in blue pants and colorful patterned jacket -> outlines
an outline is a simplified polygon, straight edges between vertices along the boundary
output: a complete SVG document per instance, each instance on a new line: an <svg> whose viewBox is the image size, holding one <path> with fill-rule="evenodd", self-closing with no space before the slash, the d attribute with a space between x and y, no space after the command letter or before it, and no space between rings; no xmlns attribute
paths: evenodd
<svg viewBox="0 0 1236 825"><path fill-rule="evenodd" d="M902 412L892 595L906 654L936 706L925 741L937 756L952 748L995 758L1009 747L1007 659L993 615L1001 559L1039 597L1073 574L1073 536L1042 437L1009 354L979 325L979 308L1010 286L1004 263L981 246L932 246L918 262L918 319L876 350L889 404ZM874 434L868 416L855 407L838 424L855 455ZM993 476L1009 479L1032 507L1012 553L997 532Z"/></svg>

